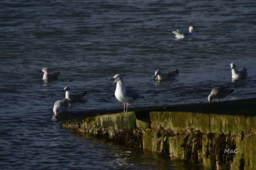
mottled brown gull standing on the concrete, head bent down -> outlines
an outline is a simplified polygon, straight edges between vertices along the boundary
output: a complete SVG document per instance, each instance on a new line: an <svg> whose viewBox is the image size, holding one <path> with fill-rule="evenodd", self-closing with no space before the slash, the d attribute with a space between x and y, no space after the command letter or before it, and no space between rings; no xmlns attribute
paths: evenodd
<svg viewBox="0 0 256 170"><path fill-rule="evenodd" d="M208 101L211 102L213 99L221 99L223 101L223 98L226 97L228 94L234 92L236 89L228 90L224 87L215 87L212 89L211 94L208 96Z"/></svg>

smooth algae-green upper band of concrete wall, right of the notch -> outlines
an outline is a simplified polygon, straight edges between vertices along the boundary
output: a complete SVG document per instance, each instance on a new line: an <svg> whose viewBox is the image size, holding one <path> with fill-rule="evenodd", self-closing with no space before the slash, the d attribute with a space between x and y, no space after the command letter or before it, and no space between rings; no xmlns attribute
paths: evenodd
<svg viewBox="0 0 256 170"><path fill-rule="evenodd" d="M153 111L150 112L150 118L152 128L161 126L164 129L183 130L187 127L196 127L204 133L222 131L227 134L231 131L231 135L241 134L242 131L252 128L256 129L256 116Z"/></svg>

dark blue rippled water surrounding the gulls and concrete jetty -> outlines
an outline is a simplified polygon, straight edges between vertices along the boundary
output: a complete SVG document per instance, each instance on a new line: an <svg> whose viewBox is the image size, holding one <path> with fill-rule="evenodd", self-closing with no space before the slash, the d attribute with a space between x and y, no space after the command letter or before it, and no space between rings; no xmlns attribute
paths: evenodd
<svg viewBox="0 0 256 170"><path fill-rule="evenodd" d="M225 100L256 97L254 1L32 1L0 3L0 165L2 169L190 169L145 150L108 144L62 129L60 122L107 113L123 104L108 80L146 97L130 108L208 102L217 86L236 91ZM196 27L196 38L172 31ZM230 63L248 68L231 79ZM44 67L60 71L42 80ZM155 70L179 75L154 81ZM87 90L67 114L53 104ZM214 101L215 102L215 101Z"/></svg>

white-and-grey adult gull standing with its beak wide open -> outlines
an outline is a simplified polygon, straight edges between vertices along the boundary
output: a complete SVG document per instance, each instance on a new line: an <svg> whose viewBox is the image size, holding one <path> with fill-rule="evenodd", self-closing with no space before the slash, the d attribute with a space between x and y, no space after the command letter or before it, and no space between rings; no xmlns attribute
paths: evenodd
<svg viewBox="0 0 256 170"><path fill-rule="evenodd" d="M127 112L128 105L133 103L135 100L145 99L144 96L137 94L136 92L134 92L134 90L127 88L124 85L123 76L121 74L116 74L114 77L111 77L111 78L115 78L115 82L113 83L113 85L117 82L115 96L118 101L124 103L124 112ZM125 111L125 103L127 103L126 111Z"/></svg>

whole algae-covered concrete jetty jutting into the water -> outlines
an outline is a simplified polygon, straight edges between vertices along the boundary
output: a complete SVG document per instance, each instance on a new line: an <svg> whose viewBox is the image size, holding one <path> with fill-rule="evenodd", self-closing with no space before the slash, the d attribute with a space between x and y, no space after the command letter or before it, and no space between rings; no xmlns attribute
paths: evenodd
<svg viewBox="0 0 256 170"><path fill-rule="evenodd" d="M145 108L61 123L209 169L256 169L256 99Z"/></svg>

